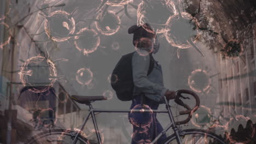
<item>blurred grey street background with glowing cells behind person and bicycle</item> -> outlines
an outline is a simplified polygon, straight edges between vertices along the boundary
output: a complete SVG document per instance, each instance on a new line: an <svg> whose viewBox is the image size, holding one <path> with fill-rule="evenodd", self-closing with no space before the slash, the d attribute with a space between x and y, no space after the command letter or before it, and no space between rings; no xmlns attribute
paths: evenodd
<svg viewBox="0 0 256 144"><path fill-rule="evenodd" d="M154 58L165 87L200 97L199 110L181 127L223 137L244 130L250 141L235 141L255 142L255 1L2 0L0 7L0 143L24 143L49 128L79 128L88 107L73 94L108 97L92 103L97 109L129 109L131 101L117 99L110 75L121 56L136 50L128 29L146 22L158 35ZM176 116L183 110L170 104ZM127 113L96 118L104 143L130 143ZM167 114L158 119L163 127L170 123ZM90 119L84 133L93 130Z"/></svg>

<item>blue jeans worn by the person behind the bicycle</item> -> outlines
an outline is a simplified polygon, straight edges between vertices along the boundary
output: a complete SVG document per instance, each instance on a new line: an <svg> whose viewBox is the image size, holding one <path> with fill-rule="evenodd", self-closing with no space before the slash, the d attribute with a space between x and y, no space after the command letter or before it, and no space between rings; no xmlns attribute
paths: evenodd
<svg viewBox="0 0 256 144"><path fill-rule="evenodd" d="M141 95L136 95L132 99L132 104L130 109L141 109L142 108L140 106L141 103L142 103ZM157 110L159 106L159 104L156 101L151 100L145 96L143 96L143 104L149 106L150 109L152 110ZM133 126L131 144L150 143L163 130L161 124L156 118L156 113L132 112L132 113L129 113L128 117L129 117L129 121L132 123L132 126ZM163 143L165 139L166 139L166 135L162 135L160 139L156 141L156 144Z"/></svg>

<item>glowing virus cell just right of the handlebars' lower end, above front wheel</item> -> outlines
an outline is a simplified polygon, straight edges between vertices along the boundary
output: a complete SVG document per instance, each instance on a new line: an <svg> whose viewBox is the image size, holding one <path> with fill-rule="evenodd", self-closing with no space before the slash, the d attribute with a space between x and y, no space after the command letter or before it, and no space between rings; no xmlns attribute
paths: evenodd
<svg viewBox="0 0 256 144"><path fill-rule="evenodd" d="M191 123L199 128L209 127L211 125L211 121L212 112L209 107L203 105L199 106L199 109L193 113L191 118Z"/></svg>

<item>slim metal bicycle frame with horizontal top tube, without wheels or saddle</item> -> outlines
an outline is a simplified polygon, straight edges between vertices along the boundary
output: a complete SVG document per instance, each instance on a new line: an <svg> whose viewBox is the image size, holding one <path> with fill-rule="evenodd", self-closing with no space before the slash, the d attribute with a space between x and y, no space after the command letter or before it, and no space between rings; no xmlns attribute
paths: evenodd
<svg viewBox="0 0 256 144"><path fill-rule="evenodd" d="M150 144L155 143L170 128L172 128L174 133L176 134L178 144L182 144L181 137L179 136L179 131L180 130L177 128L177 125L174 122L174 118L173 118L172 111L171 111L171 108L170 108L171 106L168 104L168 101L167 101L166 97L164 97L164 98L165 98L165 104L166 104L166 109L167 110L150 110L150 111L151 112L153 111L154 113L168 113L168 116L170 117L171 123L168 124L167 127L158 136L156 136L155 139ZM100 133L98 133L98 125L97 125L97 122L96 122L95 112L104 112L104 113L112 113L112 112L114 112L114 113L126 113L127 112L128 113L128 112L131 112L131 110L93 109L93 107L92 107L92 105L90 103L86 104L86 105L89 106L89 114L86 117L85 121L83 122L82 127L79 129L77 135L75 135L72 144L75 144L77 142L77 137L78 137L80 131L83 131L83 129L85 127L85 124L88 121L90 115L92 117L92 122L94 123L94 128L96 130L96 136L97 136L98 143L102 144ZM140 112L139 110L133 110L133 111ZM149 110L144 110L144 112L150 112L150 111Z"/></svg>

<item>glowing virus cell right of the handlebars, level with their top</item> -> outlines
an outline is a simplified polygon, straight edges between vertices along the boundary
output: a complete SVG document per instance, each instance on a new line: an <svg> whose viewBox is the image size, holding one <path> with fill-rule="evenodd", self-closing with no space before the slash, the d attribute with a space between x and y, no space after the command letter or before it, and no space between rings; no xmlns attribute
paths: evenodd
<svg viewBox="0 0 256 144"><path fill-rule="evenodd" d="M188 77L188 85L195 92L208 93L211 89L211 78L208 76L207 71L196 69L192 71L191 75Z"/></svg>

